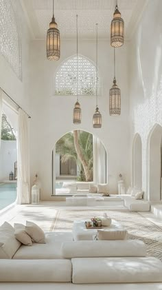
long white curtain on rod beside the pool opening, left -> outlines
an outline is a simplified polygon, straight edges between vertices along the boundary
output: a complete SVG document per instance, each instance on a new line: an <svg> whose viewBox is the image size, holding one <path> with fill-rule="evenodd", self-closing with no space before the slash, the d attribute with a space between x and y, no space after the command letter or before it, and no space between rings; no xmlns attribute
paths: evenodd
<svg viewBox="0 0 162 290"><path fill-rule="evenodd" d="M30 203L30 156L28 117L19 108L17 139L17 199L19 205Z"/></svg>

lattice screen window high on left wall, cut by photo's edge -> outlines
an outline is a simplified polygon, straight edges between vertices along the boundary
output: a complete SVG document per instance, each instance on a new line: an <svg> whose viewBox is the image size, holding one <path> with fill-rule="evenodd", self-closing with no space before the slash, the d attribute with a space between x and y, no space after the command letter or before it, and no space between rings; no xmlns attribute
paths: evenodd
<svg viewBox="0 0 162 290"><path fill-rule="evenodd" d="M21 45L11 1L13 0L0 1L0 53L3 54L16 75L21 79Z"/></svg>

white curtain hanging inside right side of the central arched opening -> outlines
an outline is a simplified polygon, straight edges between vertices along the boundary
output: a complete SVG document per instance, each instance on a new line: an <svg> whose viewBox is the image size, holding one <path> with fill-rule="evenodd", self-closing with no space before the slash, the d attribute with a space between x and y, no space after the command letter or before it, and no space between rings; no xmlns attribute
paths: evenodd
<svg viewBox="0 0 162 290"><path fill-rule="evenodd" d="M99 138L93 136L93 182L106 183L106 150Z"/></svg>

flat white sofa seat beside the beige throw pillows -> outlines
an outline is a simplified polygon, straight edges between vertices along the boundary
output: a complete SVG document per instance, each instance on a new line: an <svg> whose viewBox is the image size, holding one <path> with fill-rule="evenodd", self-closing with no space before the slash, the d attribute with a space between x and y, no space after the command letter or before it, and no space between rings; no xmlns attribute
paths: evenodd
<svg viewBox="0 0 162 290"><path fill-rule="evenodd" d="M33 242L32 247L21 245L13 257L18 259L61 259L61 246L63 241L73 240L71 233L46 233L46 244Z"/></svg>

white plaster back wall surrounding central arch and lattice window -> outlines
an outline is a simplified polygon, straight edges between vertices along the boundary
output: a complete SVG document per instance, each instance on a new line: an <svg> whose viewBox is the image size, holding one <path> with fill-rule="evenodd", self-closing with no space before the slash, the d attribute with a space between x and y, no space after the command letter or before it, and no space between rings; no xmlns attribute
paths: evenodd
<svg viewBox="0 0 162 290"><path fill-rule="evenodd" d="M102 77L102 96L98 105L102 113L102 129L93 129L92 117L95 97L82 96L82 124L73 125L75 96L54 96L54 75L62 61L76 54L76 40L61 41L61 57L52 62L46 59L45 41L32 41L30 47L31 104L31 178L34 173L42 184L41 200L51 196L51 151L58 139L71 130L85 130L95 134L108 153L107 179L111 192L117 192L117 180L121 173L130 183L129 97L128 97L128 49L127 44L117 50L117 83L122 91L121 116L109 116L109 89L113 84L113 48L110 41L99 41L99 70ZM95 41L79 41L79 53L95 62ZM54 166L55 168L55 166Z"/></svg>

